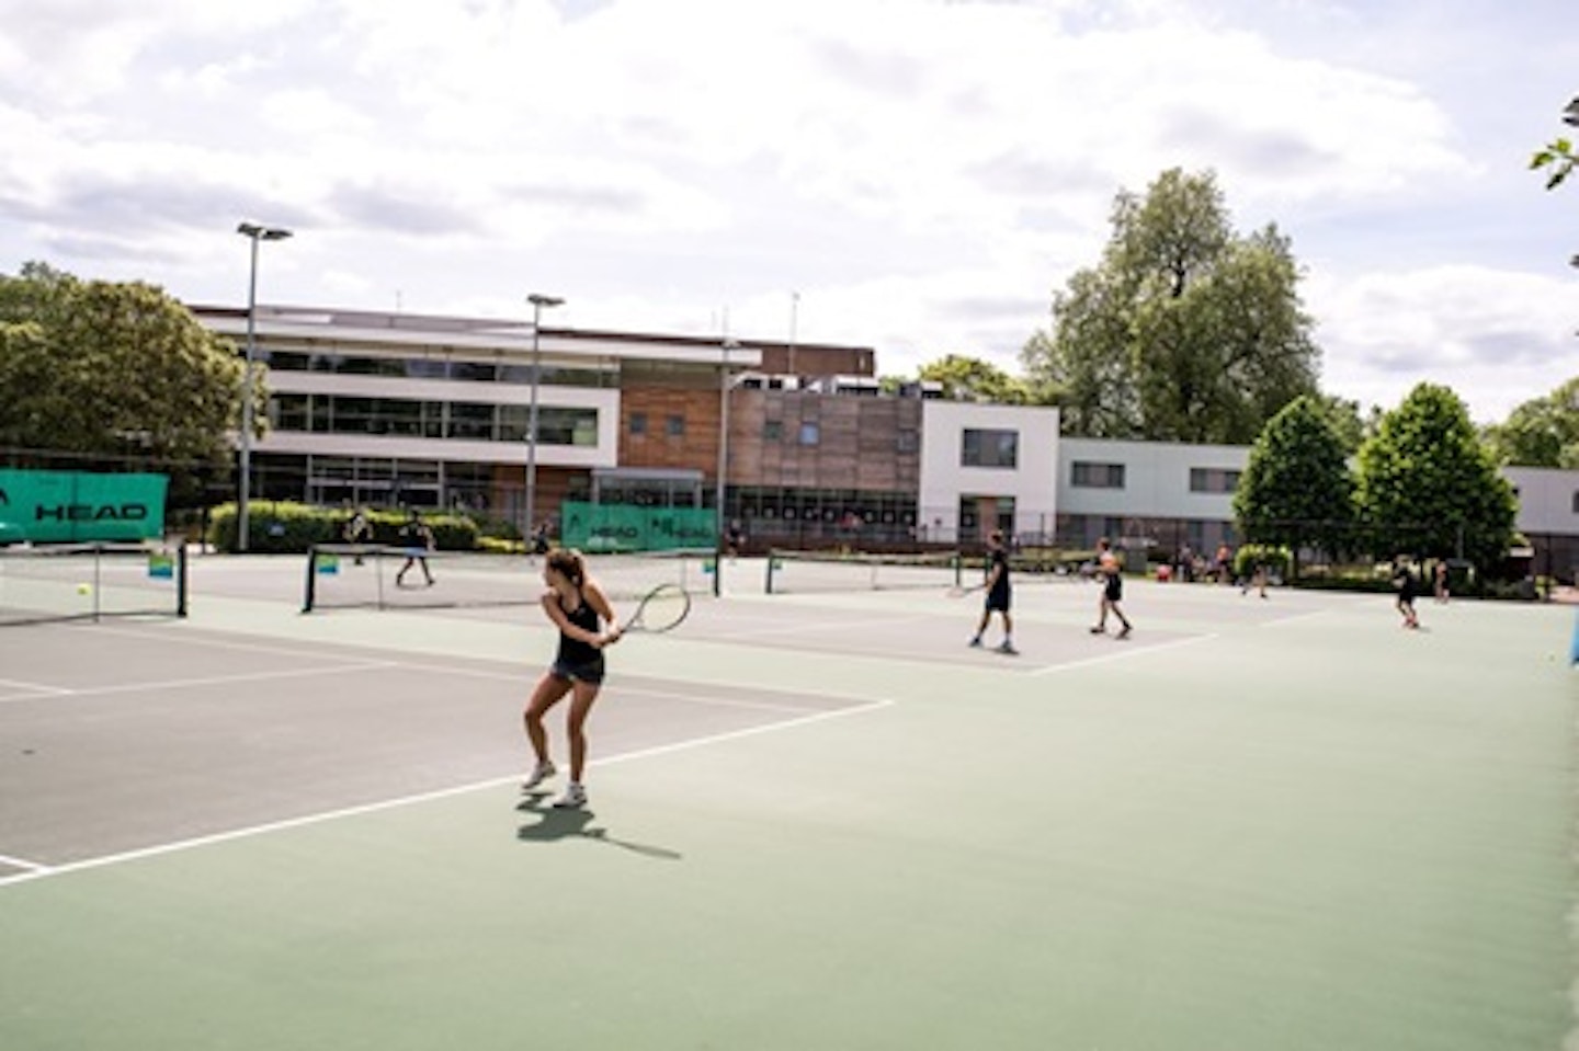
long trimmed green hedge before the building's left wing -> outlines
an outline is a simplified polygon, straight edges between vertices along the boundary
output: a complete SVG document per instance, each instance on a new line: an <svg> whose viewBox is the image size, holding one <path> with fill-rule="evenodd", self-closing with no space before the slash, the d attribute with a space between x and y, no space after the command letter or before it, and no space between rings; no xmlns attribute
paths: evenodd
<svg viewBox="0 0 1579 1051"><path fill-rule="evenodd" d="M253 500L248 514L248 551L257 554L305 554L313 544L344 543L347 516L341 510L292 503L289 500ZM208 543L219 551L237 549L235 505L221 503L208 519ZM374 544L399 544L399 530L407 516L401 511L369 511ZM475 551L482 546L477 522L464 514L423 514L441 551Z"/></svg>

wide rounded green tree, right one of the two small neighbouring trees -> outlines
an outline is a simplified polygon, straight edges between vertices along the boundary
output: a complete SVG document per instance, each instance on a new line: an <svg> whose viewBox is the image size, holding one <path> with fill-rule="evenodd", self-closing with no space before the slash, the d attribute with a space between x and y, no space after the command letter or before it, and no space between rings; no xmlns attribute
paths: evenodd
<svg viewBox="0 0 1579 1051"><path fill-rule="evenodd" d="M1465 557L1495 568L1513 540L1513 486L1497 473L1468 409L1420 383L1360 448L1360 514L1377 554Z"/></svg>

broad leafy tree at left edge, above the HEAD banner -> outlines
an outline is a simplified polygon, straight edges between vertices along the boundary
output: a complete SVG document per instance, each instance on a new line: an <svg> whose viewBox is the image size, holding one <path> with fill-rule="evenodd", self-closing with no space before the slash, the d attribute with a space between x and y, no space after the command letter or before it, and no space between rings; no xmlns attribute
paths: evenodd
<svg viewBox="0 0 1579 1051"><path fill-rule="evenodd" d="M227 470L242 377L235 347L155 286L0 275L0 445L159 466L180 489Z"/></svg>

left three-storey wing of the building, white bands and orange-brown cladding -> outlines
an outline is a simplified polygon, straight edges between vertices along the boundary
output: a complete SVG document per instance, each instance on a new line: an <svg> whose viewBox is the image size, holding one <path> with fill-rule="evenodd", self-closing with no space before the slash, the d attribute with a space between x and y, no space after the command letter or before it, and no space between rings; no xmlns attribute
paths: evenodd
<svg viewBox="0 0 1579 1051"><path fill-rule="evenodd" d="M245 346L245 309L194 306ZM797 368L870 377L870 347L548 328L499 319L257 306L268 431L253 494L311 503L526 510L567 499L701 505L717 478L725 377ZM524 526L524 522L523 522Z"/></svg>

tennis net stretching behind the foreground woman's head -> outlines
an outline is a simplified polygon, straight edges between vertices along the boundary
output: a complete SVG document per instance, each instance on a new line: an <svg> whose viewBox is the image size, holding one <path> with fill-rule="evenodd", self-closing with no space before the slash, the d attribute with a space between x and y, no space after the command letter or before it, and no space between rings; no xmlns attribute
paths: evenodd
<svg viewBox="0 0 1579 1051"><path fill-rule="evenodd" d="M611 600L639 598L658 584L677 584L693 595L712 589L712 549L584 557ZM308 552L302 612L524 606L535 603L543 587L542 555L317 544Z"/></svg>

